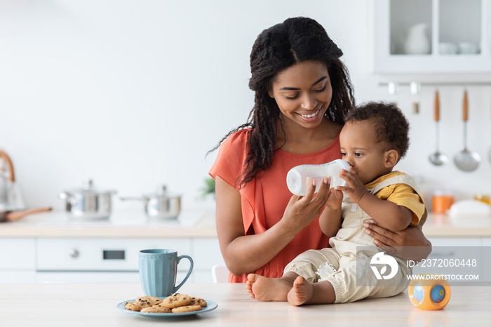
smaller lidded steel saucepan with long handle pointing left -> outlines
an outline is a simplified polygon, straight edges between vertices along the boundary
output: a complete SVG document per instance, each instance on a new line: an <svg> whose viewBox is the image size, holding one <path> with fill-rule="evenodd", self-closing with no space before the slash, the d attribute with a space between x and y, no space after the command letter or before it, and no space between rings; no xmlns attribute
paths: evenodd
<svg viewBox="0 0 491 327"><path fill-rule="evenodd" d="M168 194L166 185L158 185L156 193L143 194L142 197L126 196L119 199L144 201L145 214L148 218L173 220L177 219L181 212L181 196Z"/></svg>

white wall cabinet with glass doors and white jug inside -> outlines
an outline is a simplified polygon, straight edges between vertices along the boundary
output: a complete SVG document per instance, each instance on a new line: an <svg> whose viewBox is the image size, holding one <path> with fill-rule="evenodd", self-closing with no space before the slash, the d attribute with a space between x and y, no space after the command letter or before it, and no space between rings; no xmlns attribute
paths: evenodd
<svg viewBox="0 0 491 327"><path fill-rule="evenodd" d="M376 74L491 72L491 0L374 0Z"/></svg>

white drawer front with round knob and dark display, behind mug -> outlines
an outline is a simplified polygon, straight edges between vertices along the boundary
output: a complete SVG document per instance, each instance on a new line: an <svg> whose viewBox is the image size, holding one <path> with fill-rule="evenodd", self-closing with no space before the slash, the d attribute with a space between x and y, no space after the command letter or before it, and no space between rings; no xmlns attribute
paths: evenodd
<svg viewBox="0 0 491 327"><path fill-rule="evenodd" d="M144 248L173 248L192 258L190 239L37 239L37 271L137 272ZM189 269L181 260L177 269Z"/></svg>

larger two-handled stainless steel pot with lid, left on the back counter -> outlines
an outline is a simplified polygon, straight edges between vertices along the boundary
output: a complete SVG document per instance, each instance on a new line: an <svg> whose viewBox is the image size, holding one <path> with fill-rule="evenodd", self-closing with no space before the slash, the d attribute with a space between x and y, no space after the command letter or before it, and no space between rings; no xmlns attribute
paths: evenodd
<svg viewBox="0 0 491 327"><path fill-rule="evenodd" d="M112 194L116 191L97 189L93 180L83 181L83 187L59 194L65 200L65 210L69 218L91 220L107 219L111 215Z"/></svg>

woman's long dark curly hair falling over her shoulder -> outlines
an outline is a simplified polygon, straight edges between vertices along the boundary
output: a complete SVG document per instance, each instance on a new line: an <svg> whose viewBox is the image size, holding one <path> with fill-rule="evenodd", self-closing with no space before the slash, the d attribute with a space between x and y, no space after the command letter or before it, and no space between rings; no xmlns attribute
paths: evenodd
<svg viewBox="0 0 491 327"><path fill-rule="evenodd" d="M276 100L269 97L268 91L271 91L280 72L298 62L322 62L328 69L332 84L332 100L325 116L338 124L344 124L344 117L355 100L348 70L339 60L342 55L341 49L329 38L325 29L311 18L288 18L264 29L257 36L250 53L252 76L249 88L255 92L254 107L247 123L231 130L210 150L217 149L232 133L250 128L248 154L239 178L239 187L253 180L260 171L267 171L273 161L280 109Z"/></svg>

